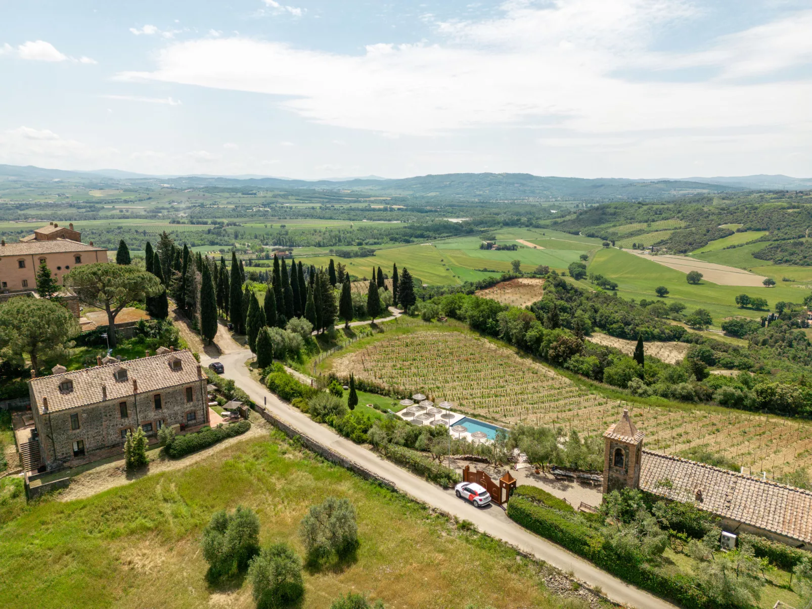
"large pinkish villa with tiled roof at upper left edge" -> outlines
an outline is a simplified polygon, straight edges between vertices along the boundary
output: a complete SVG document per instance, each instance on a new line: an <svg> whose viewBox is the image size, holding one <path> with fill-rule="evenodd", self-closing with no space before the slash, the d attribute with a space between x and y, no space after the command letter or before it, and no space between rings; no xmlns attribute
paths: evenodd
<svg viewBox="0 0 812 609"><path fill-rule="evenodd" d="M79 232L52 222L18 243L0 241L0 292L30 292L37 287L37 269L48 265L58 283L73 266L106 262L106 248L81 242ZM76 312L78 313L78 311Z"/></svg>

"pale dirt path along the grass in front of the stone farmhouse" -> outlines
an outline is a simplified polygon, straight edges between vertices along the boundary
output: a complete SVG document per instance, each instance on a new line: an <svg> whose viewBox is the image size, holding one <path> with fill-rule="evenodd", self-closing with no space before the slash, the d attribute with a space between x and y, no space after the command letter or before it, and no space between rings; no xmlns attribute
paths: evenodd
<svg viewBox="0 0 812 609"><path fill-rule="evenodd" d="M168 457L157 456L160 451L153 451L156 453L154 457L149 454L149 466L145 471L138 473L136 476L127 476L127 470L124 469L124 456L120 460L113 461L100 465L97 468L90 469L87 472L80 473L78 476L71 478L71 486L61 494L58 495L59 501L72 501L73 499L85 499L91 495L101 493L102 490L114 488L115 486L124 486L142 477L148 476L151 473L169 472L173 469L182 469L199 463L201 460L214 455L223 448L230 447L232 444L248 440L250 438L260 438L268 434L270 425L257 414L252 413L251 429L242 435L235 438L228 438L221 443L215 444L212 447L204 448L202 451L196 452L193 455L185 456L179 460L172 460Z"/></svg>

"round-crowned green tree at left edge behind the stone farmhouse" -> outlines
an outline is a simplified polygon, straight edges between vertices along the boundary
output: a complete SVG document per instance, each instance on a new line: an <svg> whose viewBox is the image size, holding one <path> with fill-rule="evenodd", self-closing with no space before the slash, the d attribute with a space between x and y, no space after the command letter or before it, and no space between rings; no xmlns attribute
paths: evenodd
<svg viewBox="0 0 812 609"><path fill-rule="evenodd" d="M0 355L18 362L28 356L34 370L61 355L79 330L76 317L53 300L18 296L0 305Z"/></svg>

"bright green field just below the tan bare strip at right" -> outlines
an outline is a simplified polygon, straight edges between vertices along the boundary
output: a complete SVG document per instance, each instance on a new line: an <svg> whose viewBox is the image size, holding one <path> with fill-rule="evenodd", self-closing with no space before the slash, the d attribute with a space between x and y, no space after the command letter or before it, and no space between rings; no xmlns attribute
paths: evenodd
<svg viewBox="0 0 812 609"><path fill-rule="evenodd" d="M736 252L740 249L743 248L726 251ZM656 298L655 287L665 286L670 291L667 298L664 299L666 302L679 300L688 307L688 312L700 307L708 309L711 311L714 326L717 328L724 317L741 315L758 319L764 314L762 311L739 309L735 302L738 294L762 296L767 299L770 306L779 300L801 302L807 294L804 290L791 287L790 283L781 282L780 276L777 278L778 284L775 287L720 286L707 281L691 285L685 280L685 273L679 270L669 269L667 266L615 248L598 250L590 262L589 271L603 274L617 282L618 294L624 298L650 300Z"/></svg>

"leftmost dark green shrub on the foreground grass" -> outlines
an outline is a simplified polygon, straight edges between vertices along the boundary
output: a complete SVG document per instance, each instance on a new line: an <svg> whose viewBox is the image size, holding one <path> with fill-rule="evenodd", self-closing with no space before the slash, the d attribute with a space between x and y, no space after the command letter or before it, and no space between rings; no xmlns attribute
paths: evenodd
<svg viewBox="0 0 812 609"><path fill-rule="evenodd" d="M259 518L248 508L237 506L234 513L214 512L203 529L203 558L209 563L206 577L217 581L248 567L259 551Z"/></svg>

